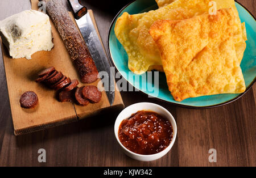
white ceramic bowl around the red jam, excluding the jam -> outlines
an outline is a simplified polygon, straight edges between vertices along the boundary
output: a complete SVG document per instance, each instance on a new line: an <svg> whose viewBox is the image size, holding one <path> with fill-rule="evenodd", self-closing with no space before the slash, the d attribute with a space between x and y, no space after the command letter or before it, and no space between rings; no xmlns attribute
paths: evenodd
<svg viewBox="0 0 256 178"><path fill-rule="evenodd" d="M171 141L170 145L168 147L166 147L166 149L164 149L163 151L158 152L156 154L152 154L152 155L141 155L141 154L137 154L135 152L132 152L132 151L126 149L126 147L123 146L122 143L119 141L119 137L118 137L118 129L119 129L121 122L123 120L125 120L126 118L129 118L131 115L133 115L137 111L143 111L143 110L144 111L153 111L153 112L156 112L159 115L167 118L168 120L170 120L170 122L172 124L172 129L174 130L172 141ZM167 111L167 109L163 108L162 106L160 106L158 104L154 104L154 103L137 103L137 104L130 105L129 107L123 109L123 111L121 113L119 113L117 120L115 120L114 132L115 132L115 138L117 138L119 145L122 147L122 150L125 152L125 154L127 156L130 156L131 158L136 159L136 160L141 160L141 161L147 162L147 161L159 159L162 156L166 155L167 152L171 150L171 147L172 147L172 145L174 145L176 135L177 135L177 125L176 125L174 117L171 115L171 113L169 111Z"/></svg>

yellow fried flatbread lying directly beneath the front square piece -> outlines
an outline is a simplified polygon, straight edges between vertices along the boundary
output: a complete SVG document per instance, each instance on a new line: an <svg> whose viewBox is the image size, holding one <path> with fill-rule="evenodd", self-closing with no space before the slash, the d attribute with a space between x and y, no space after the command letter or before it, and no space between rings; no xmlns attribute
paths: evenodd
<svg viewBox="0 0 256 178"><path fill-rule="evenodd" d="M163 71L160 53L157 46L148 34L148 30L156 20L188 19L195 15L201 15L209 11L211 0L176 0L168 6L143 14L129 15L124 12L115 24L115 35L125 48L129 57L128 67L135 74L143 74L146 71L156 69ZM242 60L243 51L246 48L242 36L240 18L234 0L216 0L217 9L232 7L236 14L236 48L237 56ZM245 32L246 34L246 32Z"/></svg>

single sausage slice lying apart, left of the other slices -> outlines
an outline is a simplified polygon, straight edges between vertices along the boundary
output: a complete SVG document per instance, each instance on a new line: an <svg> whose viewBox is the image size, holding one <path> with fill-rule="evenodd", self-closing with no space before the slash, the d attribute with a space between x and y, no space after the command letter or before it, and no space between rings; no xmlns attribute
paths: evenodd
<svg viewBox="0 0 256 178"><path fill-rule="evenodd" d="M34 108L38 104L38 95L34 91L26 91L20 96L19 103L22 108Z"/></svg>

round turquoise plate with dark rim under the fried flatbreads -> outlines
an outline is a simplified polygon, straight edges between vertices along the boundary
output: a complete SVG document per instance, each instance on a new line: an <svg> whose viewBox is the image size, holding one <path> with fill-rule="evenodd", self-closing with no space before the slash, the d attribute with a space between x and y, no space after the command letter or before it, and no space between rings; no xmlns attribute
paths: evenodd
<svg viewBox="0 0 256 178"><path fill-rule="evenodd" d="M128 12L129 14L138 14L142 12L147 12L150 10L158 9L158 6L155 3L155 0L137 0L131 2L129 5L125 6L118 14L115 16L110 28L108 36L108 51L109 57L122 77L125 78L131 85L133 85L138 90L141 90L147 95L150 95L154 98L158 98L172 104L179 105L181 107L187 108L213 108L220 105L231 103L242 95L244 95L253 83L255 82L256 76L256 21L253 15L245 9L242 5L236 2L237 10L240 14L241 22L245 22L247 38L246 41L247 47L245 54L241 63L243 77L245 78L246 91L242 94L220 94L220 95L211 95L211 96L200 96L197 98L188 98L181 102L175 101L168 91L168 86L166 83L166 77L164 73L159 73L159 85L155 87L155 91L151 90L154 86L154 82L147 82L145 75L147 77L148 73L144 75L136 75L130 72L128 69L128 57L123 46L117 40L117 37L114 33L115 22L123 12ZM135 77L139 77L140 80L134 80ZM151 86L151 88L150 88ZM152 91L152 92L151 92Z"/></svg>

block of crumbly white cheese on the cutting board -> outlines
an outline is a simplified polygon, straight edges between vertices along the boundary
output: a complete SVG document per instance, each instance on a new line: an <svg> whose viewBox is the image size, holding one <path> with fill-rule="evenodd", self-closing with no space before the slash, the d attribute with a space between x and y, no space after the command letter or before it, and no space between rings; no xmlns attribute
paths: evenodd
<svg viewBox="0 0 256 178"><path fill-rule="evenodd" d="M13 58L26 57L40 50L51 50L52 31L49 16L26 10L0 21L0 36Z"/></svg>

